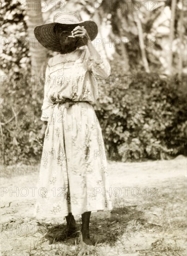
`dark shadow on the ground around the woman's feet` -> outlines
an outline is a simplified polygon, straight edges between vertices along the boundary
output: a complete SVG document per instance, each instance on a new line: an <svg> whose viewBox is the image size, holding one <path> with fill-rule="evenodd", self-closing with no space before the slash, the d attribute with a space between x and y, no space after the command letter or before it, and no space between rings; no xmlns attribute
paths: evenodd
<svg viewBox="0 0 187 256"><path fill-rule="evenodd" d="M137 210L135 206L114 208L111 211L111 216L104 218L100 213L96 213L90 221L90 238L93 244L109 243L114 245L124 233L137 232L141 226L146 224L146 220L143 218L142 211ZM137 225L139 224L139 225ZM138 228L139 227L139 228ZM81 229L81 219L77 221L77 230ZM59 241L67 241L74 243L74 239L78 239L79 231L73 233L71 236L67 236L66 225L46 225L45 238L49 241L49 244L57 243Z"/></svg>

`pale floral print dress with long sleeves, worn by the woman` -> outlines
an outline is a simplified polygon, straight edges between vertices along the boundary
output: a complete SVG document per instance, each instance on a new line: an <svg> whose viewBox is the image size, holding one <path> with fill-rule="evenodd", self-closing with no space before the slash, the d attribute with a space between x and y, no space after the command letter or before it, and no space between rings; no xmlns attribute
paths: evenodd
<svg viewBox="0 0 187 256"><path fill-rule="evenodd" d="M34 215L62 222L87 211L111 210L107 160L93 104L108 61L94 61L87 48L49 59L42 105L47 122ZM72 106L58 104L66 98ZM56 104L53 104L53 103Z"/></svg>

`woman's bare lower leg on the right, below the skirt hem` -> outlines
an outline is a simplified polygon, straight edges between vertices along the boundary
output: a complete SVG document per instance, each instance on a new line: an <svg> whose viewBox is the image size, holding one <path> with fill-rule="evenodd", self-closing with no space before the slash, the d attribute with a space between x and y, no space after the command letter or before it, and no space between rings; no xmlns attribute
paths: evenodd
<svg viewBox="0 0 187 256"><path fill-rule="evenodd" d="M83 242L89 245L92 244L90 241L90 235L89 235L90 215L91 215L91 211L85 212L82 214L82 228L81 228Z"/></svg>

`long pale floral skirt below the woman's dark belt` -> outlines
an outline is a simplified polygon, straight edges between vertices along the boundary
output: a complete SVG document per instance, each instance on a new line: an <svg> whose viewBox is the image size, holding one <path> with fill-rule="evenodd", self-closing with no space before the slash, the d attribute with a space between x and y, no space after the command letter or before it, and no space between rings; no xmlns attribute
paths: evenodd
<svg viewBox="0 0 187 256"><path fill-rule="evenodd" d="M52 107L37 183L34 215L62 222L68 213L111 210L107 158L93 106Z"/></svg>

